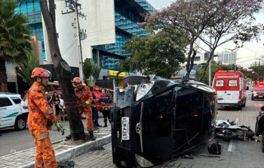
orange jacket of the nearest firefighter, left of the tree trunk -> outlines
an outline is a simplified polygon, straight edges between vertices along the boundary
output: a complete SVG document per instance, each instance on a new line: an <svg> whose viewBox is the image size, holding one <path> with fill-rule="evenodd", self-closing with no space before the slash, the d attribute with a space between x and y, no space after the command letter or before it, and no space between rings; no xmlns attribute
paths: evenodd
<svg viewBox="0 0 264 168"><path fill-rule="evenodd" d="M51 129L47 124L48 119L56 124L57 117L50 108L44 87L36 81L28 91L28 108L29 129Z"/></svg>

